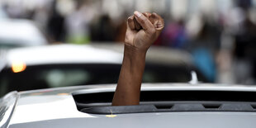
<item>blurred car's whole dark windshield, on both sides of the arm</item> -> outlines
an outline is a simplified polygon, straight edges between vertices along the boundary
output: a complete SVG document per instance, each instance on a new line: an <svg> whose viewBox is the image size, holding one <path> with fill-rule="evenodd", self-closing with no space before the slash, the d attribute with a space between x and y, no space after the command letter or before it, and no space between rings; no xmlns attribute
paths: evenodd
<svg viewBox="0 0 256 128"><path fill-rule="evenodd" d="M17 90L58 88L76 85L117 83L121 64L47 64L27 66L20 73L3 69L0 74L1 95ZM167 71L172 72L167 72ZM198 80L207 82L201 73ZM189 70L178 65L146 64L144 83L187 83Z"/></svg>

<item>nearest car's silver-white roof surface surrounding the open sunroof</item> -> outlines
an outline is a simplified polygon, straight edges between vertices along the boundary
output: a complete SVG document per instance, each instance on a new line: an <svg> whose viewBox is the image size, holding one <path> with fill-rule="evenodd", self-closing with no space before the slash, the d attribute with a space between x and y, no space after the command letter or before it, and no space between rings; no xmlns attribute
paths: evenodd
<svg viewBox="0 0 256 128"><path fill-rule="evenodd" d="M19 92L20 97L10 127L254 127L256 125L255 112L153 112L115 116L89 114L78 111L72 97L73 94L84 92L113 92L115 87L115 84L106 84ZM142 90L256 92L254 87L215 86L205 83L197 86L188 83L144 83Z"/></svg>

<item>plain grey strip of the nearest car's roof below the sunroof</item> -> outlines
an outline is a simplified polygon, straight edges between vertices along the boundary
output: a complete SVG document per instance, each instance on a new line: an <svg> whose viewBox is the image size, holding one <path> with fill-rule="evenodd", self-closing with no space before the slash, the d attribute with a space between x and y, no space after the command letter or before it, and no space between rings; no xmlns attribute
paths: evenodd
<svg viewBox="0 0 256 128"><path fill-rule="evenodd" d="M159 127L159 128L254 128L255 113L244 112L172 112L124 114L107 116L66 118L13 124L10 128L32 127Z"/></svg>

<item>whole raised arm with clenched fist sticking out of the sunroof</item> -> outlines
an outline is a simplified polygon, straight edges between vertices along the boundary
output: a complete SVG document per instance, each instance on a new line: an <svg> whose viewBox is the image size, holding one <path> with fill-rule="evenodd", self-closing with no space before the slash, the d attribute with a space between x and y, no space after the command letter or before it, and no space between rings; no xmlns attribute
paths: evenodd
<svg viewBox="0 0 256 128"><path fill-rule="evenodd" d="M128 18L124 58L112 106L140 104L145 56L163 29L164 19L156 13L135 12Z"/></svg>

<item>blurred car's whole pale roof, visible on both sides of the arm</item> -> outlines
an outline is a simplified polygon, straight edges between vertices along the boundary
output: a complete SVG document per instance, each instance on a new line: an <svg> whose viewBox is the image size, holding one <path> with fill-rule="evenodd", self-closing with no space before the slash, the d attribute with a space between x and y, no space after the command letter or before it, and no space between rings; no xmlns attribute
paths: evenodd
<svg viewBox="0 0 256 128"><path fill-rule="evenodd" d="M21 61L26 65L38 64L121 64L123 45L97 44L90 45L44 45L23 47L7 51L6 61L10 67L13 62ZM192 65L192 56L183 50L172 50L162 47L149 49L147 62L156 64Z"/></svg>

